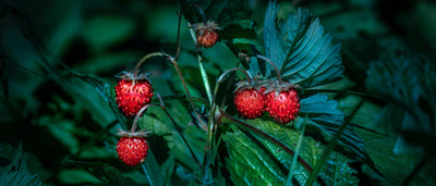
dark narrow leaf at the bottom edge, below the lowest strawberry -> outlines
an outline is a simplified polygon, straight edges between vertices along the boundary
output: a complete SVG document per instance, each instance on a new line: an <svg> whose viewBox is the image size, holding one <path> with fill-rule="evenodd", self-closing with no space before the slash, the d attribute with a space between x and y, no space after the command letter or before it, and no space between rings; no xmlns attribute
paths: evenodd
<svg viewBox="0 0 436 186"><path fill-rule="evenodd" d="M119 170L112 165L100 162L84 162L70 160L69 164L73 164L94 175L102 183L109 185L135 185L130 178L126 178Z"/></svg>

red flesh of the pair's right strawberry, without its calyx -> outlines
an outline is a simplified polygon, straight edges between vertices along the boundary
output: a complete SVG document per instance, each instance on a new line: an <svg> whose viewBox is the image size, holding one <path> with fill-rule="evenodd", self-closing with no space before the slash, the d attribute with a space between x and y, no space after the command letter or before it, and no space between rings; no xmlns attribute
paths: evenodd
<svg viewBox="0 0 436 186"><path fill-rule="evenodd" d="M295 120L300 111L300 99L295 89L270 91L266 97L266 111L279 124Z"/></svg>

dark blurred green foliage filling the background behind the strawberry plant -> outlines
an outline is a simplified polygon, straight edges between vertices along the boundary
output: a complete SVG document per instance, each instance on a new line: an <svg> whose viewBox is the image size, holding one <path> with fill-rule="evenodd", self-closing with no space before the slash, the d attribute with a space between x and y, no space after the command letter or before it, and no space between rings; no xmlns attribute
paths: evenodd
<svg viewBox="0 0 436 186"><path fill-rule="evenodd" d="M249 50L263 51L256 44L262 44L267 1L196 2L208 8L206 16L225 28L219 32L220 42L202 49L215 85L223 71L239 64L237 53L246 44L255 45ZM361 173L361 183L396 185L421 166L411 182L435 184L436 153L429 141L436 141L436 3L294 0L279 4L279 17L296 7L308 8L332 35L332 42L341 44L343 78L323 88L390 98L327 94L339 101L346 116L356 109L350 119L354 133L385 175L382 178L356 161L352 166ZM9 175L2 176L31 177L23 182L32 184L149 184L140 168L128 168L118 160L113 134L125 124L117 120L107 99L113 95L114 75L133 70L141 57L156 51L175 53L178 12L192 11L186 7L169 0L1 0L0 169ZM206 98L187 28L187 21L201 17L191 15L182 18L179 61L191 94ZM89 75L86 79L94 79L95 86L71 74L73 71ZM189 104L180 99L184 90L172 66L165 59L153 59L143 71L154 74L155 90L166 98L167 109L195 153L203 157L205 135L195 126ZM391 86L385 84L389 80ZM153 131L148 140L152 147L159 147L152 149L160 171L169 175L166 179L173 185L192 179L195 162L170 120L157 109L146 114L140 126ZM231 137L238 136L229 134L225 140Z"/></svg>

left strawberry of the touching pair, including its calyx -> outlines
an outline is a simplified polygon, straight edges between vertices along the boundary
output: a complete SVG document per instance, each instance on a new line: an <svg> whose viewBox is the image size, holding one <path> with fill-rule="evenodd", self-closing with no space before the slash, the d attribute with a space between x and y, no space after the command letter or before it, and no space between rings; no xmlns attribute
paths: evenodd
<svg viewBox="0 0 436 186"><path fill-rule="evenodd" d="M242 80L237 84L233 102L238 113L245 119L256 119L264 114L266 97L263 94L265 87L257 83Z"/></svg>

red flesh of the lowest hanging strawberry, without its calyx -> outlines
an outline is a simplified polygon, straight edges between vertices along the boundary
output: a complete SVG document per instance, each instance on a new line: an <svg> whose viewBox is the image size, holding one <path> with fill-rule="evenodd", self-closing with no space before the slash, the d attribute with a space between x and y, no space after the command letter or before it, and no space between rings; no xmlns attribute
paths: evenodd
<svg viewBox="0 0 436 186"><path fill-rule="evenodd" d="M145 137L121 137L117 144L118 157L130 166L144 163L147 151L148 144Z"/></svg>

